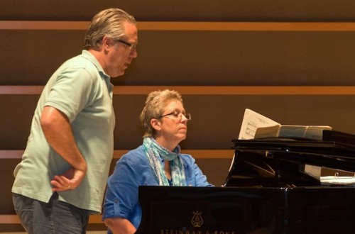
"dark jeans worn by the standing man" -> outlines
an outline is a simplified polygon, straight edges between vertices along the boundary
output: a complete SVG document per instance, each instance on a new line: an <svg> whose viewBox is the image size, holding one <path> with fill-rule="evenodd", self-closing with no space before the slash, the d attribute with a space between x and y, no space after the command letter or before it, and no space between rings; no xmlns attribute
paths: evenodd
<svg viewBox="0 0 355 234"><path fill-rule="evenodd" d="M58 200L55 192L47 203L12 194L21 225L29 234L86 233L89 211Z"/></svg>

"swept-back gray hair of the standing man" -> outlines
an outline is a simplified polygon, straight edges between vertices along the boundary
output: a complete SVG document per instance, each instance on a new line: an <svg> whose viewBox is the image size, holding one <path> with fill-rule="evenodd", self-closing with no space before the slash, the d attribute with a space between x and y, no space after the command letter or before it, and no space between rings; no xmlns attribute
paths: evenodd
<svg viewBox="0 0 355 234"><path fill-rule="evenodd" d="M100 11L87 28L84 38L85 49L99 48L105 35L117 40L124 35L124 22L136 25L136 19L126 11L116 8Z"/></svg>

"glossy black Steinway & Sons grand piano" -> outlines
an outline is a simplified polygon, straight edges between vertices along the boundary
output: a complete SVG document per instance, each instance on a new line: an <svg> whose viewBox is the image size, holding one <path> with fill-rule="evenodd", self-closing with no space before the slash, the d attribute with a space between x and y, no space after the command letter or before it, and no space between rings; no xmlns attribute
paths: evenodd
<svg viewBox="0 0 355 234"><path fill-rule="evenodd" d="M224 186L140 186L136 233L355 233L355 186L320 183L305 165L355 172L355 136L232 140Z"/></svg>

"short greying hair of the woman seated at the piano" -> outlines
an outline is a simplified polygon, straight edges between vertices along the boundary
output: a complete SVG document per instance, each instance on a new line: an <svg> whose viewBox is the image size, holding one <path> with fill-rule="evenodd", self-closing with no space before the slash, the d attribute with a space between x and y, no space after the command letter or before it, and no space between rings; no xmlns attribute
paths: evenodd
<svg viewBox="0 0 355 234"><path fill-rule="evenodd" d="M154 135L154 128L151 126L151 119L159 118L170 101L177 100L182 103L182 97L178 91L165 89L163 91L152 91L146 99L146 106L141 112L141 124L144 128L144 137Z"/></svg>

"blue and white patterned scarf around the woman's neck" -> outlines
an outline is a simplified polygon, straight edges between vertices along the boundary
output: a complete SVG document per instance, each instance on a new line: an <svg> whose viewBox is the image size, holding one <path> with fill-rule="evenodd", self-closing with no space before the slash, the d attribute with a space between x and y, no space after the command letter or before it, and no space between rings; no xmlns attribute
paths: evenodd
<svg viewBox="0 0 355 234"><path fill-rule="evenodd" d="M159 185L169 186L168 178L165 176L165 171L160 163L160 157L170 162L171 177L173 186L186 186L184 165L180 157L180 146L175 147L174 152L171 152L165 147L159 145L154 138L143 139L143 149L149 160L149 165L153 171L155 179Z"/></svg>

